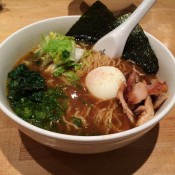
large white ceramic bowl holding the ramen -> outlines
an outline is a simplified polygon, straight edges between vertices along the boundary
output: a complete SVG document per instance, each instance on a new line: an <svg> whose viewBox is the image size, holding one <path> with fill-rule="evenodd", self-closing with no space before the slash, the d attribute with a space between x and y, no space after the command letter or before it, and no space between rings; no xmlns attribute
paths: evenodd
<svg viewBox="0 0 175 175"><path fill-rule="evenodd" d="M158 75L166 80L168 99L155 117L142 126L117 134L102 136L71 136L46 131L19 118L10 108L6 97L6 79L15 62L39 43L41 33L50 31L66 33L79 16L57 17L31 24L12 34L0 45L0 108L17 127L34 140L49 147L73 153L98 153L127 145L143 136L170 111L175 102L175 59L170 51L156 38L146 33L160 65Z"/></svg>

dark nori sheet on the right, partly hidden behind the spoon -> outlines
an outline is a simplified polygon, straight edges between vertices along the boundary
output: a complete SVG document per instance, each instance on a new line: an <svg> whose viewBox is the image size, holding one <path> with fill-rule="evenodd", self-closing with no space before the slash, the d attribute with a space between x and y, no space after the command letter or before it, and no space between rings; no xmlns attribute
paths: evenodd
<svg viewBox="0 0 175 175"><path fill-rule="evenodd" d="M130 14L126 14L118 17L116 27L129 16ZM141 66L146 73L155 74L159 70L158 59L140 25L137 25L128 37L122 56Z"/></svg>

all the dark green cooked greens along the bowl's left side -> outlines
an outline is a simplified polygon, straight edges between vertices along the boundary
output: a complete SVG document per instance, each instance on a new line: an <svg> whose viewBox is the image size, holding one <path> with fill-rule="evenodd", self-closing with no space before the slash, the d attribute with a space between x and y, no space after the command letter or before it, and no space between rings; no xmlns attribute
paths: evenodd
<svg viewBox="0 0 175 175"><path fill-rule="evenodd" d="M44 79L24 64L8 74L8 99L14 112L25 121L55 131L67 108L61 88L47 89Z"/></svg>

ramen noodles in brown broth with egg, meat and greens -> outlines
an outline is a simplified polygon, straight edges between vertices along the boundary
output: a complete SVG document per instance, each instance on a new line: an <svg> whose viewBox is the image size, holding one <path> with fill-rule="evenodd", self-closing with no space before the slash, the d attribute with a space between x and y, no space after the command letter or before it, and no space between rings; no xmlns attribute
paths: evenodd
<svg viewBox="0 0 175 175"><path fill-rule="evenodd" d="M166 82L130 61L51 32L8 74L8 99L25 121L70 135L105 135L139 126L167 99Z"/></svg>

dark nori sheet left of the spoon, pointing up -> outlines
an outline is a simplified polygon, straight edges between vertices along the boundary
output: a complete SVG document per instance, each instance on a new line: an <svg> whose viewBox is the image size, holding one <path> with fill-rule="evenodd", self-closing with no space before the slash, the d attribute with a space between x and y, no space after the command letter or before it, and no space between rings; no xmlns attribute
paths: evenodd
<svg viewBox="0 0 175 175"><path fill-rule="evenodd" d="M115 28L116 18L100 1L96 1L67 32L77 41L94 44Z"/></svg>

